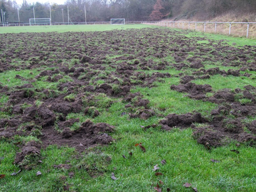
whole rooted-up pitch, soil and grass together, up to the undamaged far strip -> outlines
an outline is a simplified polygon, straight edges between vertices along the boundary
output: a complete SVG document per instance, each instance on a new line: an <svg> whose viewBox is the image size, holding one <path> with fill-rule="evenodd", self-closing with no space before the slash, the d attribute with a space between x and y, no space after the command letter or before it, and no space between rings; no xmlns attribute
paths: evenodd
<svg viewBox="0 0 256 192"><path fill-rule="evenodd" d="M0 34L0 190L255 191L256 46L218 37Z"/></svg>

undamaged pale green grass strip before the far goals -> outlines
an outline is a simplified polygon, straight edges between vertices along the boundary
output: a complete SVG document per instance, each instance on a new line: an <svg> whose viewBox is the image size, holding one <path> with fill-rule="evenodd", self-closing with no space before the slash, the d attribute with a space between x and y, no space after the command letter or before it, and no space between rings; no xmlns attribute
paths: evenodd
<svg viewBox="0 0 256 192"><path fill-rule="evenodd" d="M108 31L108 30L125 30L129 28L157 27L151 25L52 25L52 26L17 26L1 27L0 33L25 33L25 32L81 32L81 31Z"/></svg>

